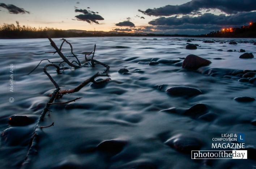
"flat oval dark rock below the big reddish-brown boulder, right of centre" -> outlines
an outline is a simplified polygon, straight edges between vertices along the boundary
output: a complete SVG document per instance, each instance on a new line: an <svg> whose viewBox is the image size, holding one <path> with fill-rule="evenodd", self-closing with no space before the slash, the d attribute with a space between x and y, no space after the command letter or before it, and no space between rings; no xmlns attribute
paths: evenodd
<svg viewBox="0 0 256 169"><path fill-rule="evenodd" d="M196 96L202 94L200 90L192 87L170 87L166 90L171 95Z"/></svg>

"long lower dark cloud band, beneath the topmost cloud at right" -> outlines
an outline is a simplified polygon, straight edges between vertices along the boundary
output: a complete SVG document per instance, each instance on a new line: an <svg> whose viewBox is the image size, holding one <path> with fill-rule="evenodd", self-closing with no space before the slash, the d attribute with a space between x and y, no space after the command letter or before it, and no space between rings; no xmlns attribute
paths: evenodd
<svg viewBox="0 0 256 169"><path fill-rule="evenodd" d="M149 22L149 24L153 26L178 26L186 24L212 24L212 25L218 25L218 26L236 26L236 25L243 25L250 21L256 20L256 12L243 12L238 13L236 15L214 15L210 13L202 14L198 17L191 17L188 15L185 15L181 18L178 18L178 16L175 17L161 17L155 20L152 20Z"/></svg>

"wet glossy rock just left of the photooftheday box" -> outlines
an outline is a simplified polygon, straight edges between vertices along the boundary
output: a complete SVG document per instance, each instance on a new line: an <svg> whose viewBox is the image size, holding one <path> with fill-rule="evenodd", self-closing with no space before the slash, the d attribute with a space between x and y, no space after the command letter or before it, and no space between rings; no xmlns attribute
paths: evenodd
<svg viewBox="0 0 256 169"><path fill-rule="evenodd" d="M192 150L200 150L202 147L202 142L198 138L181 135L170 138L165 144L185 154L191 154Z"/></svg>

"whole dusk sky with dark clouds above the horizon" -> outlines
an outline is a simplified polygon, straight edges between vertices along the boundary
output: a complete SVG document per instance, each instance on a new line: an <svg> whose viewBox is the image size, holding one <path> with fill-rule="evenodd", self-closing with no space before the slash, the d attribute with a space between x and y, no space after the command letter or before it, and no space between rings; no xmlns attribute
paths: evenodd
<svg viewBox="0 0 256 169"><path fill-rule="evenodd" d="M0 25L201 35L256 22L256 0L0 0Z"/></svg>

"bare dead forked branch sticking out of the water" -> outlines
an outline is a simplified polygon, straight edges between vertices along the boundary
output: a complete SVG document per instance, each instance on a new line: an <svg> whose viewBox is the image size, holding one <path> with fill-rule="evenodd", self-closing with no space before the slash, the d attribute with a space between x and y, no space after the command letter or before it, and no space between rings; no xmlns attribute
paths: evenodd
<svg viewBox="0 0 256 169"><path fill-rule="evenodd" d="M110 80L110 78L106 78L106 79L103 79L101 81L95 81L95 78L96 77L99 77L99 76L105 76L105 77L109 77L109 75L107 74L108 70L109 70L109 66L107 64L104 64L104 63L101 63L100 61L97 61L94 58L94 53L95 53L95 48L96 48L96 45L94 45L94 51L93 51L93 56L91 59L87 59L86 58L86 54L85 54L85 59L86 59L86 62L89 62L91 61L91 66L94 67L95 63L96 64L101 64L103 65L104 67L106 67L106 69L103 71L103 73L99 74L99 73L96 73L94 74L93 76L91 76L90 78L86 79L84 82L80 83L77 87L75 88L72 88L72 89L66 89L66 90L61 90L61 86L59 86L59 84L57 84L54 79L51 77L51 75L47 72L47 68L48 67L55 67L56 68L56 72L57 74L60 74L60 67L54 63L63 63L63 62L66 62L68 65L70 65L71 67L74 67L74 68L80 68L81 67L81 64L80 64L80 61L77 59L76 55L73 53L73 47L72 45L65 39L62 39L63 42L62 44L60 45L60 49L55 45L55 43L51 40L50 36L47 35L47 38L50 40L51 42L51 45L52 47L54 47L54 49L56 50L55 52L51 52L51 53L58 53L60 55L60 57L63 59L63 61L61 62L51 62L50 60L48 59L43 59L43 60L48 60L48 62L50 62L51 64L47 64L44 66L43 68L43 72L48 76L48 78L50 79L50 81L54 84L55 86L55 90L54 92L52 92L49 100L46 102L45 106L44 106L44 109L42 110L42 113L40 114L40 117L38 118L38 121L37 121L37 124L35 126L35 129L34 129L34 133L33 133L33 136L31 137L30 139L30 145L29 145L29 150L27 152L27 156L25 158L25 161L24 163L22 164L22 168L29 168L29 165L30 165L30 162L33 160L33 158L35 157L34 155L37 154L37 145L38 145L38 140L39 140L39 136L40 136L40 133L42 131L43 128L48 128L48 127L51 127L54 125L54 122L51 124L51 125L48 125L48 126L41 126L40 124L43 122L44 120L44 117L46 115L47 112L50 112L51 110L50 109L50 106L51 105L54 105L54 104L67 104L69 102L73 102L73 101L76 101L78 99L81 99L82 97L77 97L76 99L73 99L73 100L70 100L70 101L67 101L67 102L54 102L55 99L57 98L62 98L63 95L65 94L68 94L68 93L74 93L74 92L78 92L79 90L81 90L81 88L83 88L84 86L86 86L88 83L92 82L92 83L95 83L95 84L99 84L99 83L104 83L104 82L108 82ZM62 54L61 52L61 48L64 44L64 42L68 43L71 47L71 52L72 52L72 55L77 59L77 61L74 61L76 62L78 65L74 65L72 63L70 63L68 61L67 58L65 58L65 56ZM92 52L90 52L91 54ZM89 55L90 55L89 54ZM88 55L88 54L87 54ZM41 60L40 63L43 61ZM40 64L39 63L39 64ZM39 64L37 65L37 67L39 66ZM90 64L90 63L89 63ZM35 67L31 72L33 72L37 67ZM31 73L30 72L30 73ZM29 74L30 74L29 73Z"/></svg>

